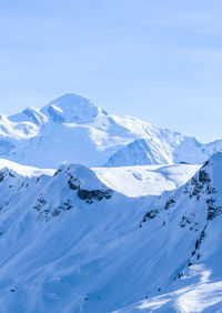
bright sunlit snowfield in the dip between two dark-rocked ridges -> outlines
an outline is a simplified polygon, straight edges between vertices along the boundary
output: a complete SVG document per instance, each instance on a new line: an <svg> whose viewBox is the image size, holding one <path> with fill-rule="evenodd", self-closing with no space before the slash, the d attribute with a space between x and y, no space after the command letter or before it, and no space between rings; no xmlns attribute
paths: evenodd
<svg viewBox="0 0 222 313"><path fill-rule="evenodd" d="M185 184L200 165L143 165L93 168L97 175L111 189L128 196L160 195Z"/></svg>

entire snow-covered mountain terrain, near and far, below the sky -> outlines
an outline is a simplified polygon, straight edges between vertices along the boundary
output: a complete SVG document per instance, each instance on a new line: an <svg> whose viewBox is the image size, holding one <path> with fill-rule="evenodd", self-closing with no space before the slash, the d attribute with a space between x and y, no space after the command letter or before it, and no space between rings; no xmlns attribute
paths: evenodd
<svg viewBox="0 0 222 313"><path fill-rule="evenodd" d="M221 150L77 94L0 115L0 312L222 312Z"/></svg>

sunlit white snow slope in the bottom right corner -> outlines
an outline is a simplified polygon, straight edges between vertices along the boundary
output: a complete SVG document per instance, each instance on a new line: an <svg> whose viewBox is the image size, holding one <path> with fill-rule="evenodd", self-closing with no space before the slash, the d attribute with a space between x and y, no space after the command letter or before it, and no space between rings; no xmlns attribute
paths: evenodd
<svg viewBox="0 0 222 313"><path fill-rule="evenodd" d="M211 272L202 266L192 266L191 274L200 273L200 282L181 287L174 292L153 296L115 311L119 313L139 312L211 312L222 310L222 282L209 282Z"/></svg>

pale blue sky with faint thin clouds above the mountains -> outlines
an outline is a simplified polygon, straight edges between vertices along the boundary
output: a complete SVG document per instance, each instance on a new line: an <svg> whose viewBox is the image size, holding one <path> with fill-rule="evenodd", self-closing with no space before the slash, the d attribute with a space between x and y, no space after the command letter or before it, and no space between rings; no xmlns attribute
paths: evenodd
<svg viewBox="0 0 222 313"><path fill-rule="evenodd" d="M0 1L0 112L64 93L222 139L221 0Z"/></svg>

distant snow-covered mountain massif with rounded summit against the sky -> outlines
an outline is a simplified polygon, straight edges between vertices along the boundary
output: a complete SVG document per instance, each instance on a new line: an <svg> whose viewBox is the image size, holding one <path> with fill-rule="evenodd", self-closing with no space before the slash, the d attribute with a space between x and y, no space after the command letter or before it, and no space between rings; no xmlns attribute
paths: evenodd
<svg viewBox="0 0 222 313"><path fill-rule="evenodd" d="M32 166L203 163L221 150L222 141L202 144L135 118L109 115L77 94L0 117L0 158Z"/></svg>

